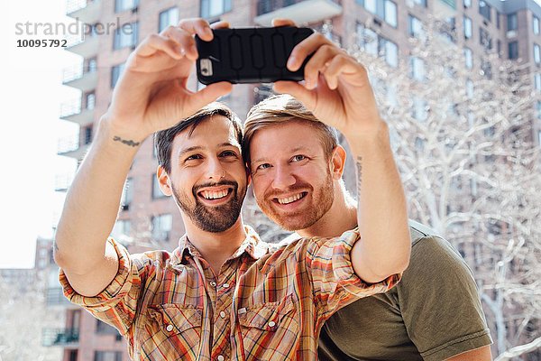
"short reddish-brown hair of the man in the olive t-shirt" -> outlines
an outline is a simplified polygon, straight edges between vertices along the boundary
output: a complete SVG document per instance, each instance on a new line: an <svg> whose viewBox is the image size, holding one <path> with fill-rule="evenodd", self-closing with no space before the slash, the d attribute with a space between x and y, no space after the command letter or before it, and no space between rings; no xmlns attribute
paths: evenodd
<svg viewBox="0 0 541 361"><path fill-rule="evenodd" d="M250 142L253 135L260 129L280 125L289 121L298 121L316 129L323 145L327 159L330 159L338 136L335 128L317 120L307 108L296 98L287 94L267 97L248 112L244 123L243 157L250 164Z"/></svg>

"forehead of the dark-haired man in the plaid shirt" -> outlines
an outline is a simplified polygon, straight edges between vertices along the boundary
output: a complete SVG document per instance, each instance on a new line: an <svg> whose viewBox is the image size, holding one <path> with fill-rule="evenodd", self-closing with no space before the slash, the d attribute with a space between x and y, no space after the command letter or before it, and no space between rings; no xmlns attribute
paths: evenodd
<svg viewBox="0 0 541 361"><path fill-rule="evenodd" d="M195 128L190 125L177 134L173 141L173 152L180 153L196 146L214 149L224 143L240 147L233 122L225 116L209 116L199 122Z"/></svg>

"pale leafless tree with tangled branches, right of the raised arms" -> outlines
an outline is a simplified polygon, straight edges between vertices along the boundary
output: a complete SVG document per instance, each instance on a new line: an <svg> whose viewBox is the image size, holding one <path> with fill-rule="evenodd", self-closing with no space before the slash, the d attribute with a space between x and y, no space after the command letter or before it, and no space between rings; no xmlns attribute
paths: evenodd
<svg viewBox="0 0 541 361"><path fill-rule="evenodd" d="M493 353L539 355L541 159L531 70L493 53L468 69L448 23L435 19L399 64L368 26L357 36L352 51L390 124L410 217L449 239L472 267Z"/></svg>

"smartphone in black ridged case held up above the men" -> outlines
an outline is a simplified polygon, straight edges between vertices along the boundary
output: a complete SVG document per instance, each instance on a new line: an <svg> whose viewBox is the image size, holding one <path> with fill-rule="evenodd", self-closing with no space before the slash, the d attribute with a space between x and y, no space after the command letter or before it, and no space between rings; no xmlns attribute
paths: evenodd
<svg viewBox="0 0 541 361"><path fill-rule="evenodd" d="M304 66L289 71L286 63L293 48L314 31L309 28L214 29L214 39L204 42L196 36L197 79L203 84L271 83L304 79Z"/></svg>

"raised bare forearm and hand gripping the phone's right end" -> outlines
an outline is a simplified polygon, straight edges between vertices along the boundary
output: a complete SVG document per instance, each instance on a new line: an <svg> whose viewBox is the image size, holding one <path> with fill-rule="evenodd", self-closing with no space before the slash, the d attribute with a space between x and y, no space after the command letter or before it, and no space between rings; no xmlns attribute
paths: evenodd
<svg viewBox="0 0 541 361"><path fill-rule="evenodd" d="M362 64L315 33L292 51L288 68L297 70L309 54L313 55L305 67L305 83L280 81L274 89L296 97L347 139L356 164L361 234L351 252L353 270L365 282L379 282L408 267L411 248L406 198L388 126L381 120Z"/></svg>

